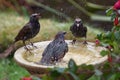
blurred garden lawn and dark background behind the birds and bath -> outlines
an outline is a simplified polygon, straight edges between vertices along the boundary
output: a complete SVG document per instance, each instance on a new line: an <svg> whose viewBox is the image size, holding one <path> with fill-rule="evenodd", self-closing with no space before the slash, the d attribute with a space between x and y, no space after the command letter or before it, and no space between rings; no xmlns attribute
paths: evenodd
<svg viewBox="0 0 120 80"><path fill-rule="evenodd" d="M28 22L32 13L41 13L41 30L32 39L34 42L51 40L60 30L69 32L76 17L80 17L89 29L87 40L94 41L98 33L111 30L113 25L105 11L116 1L0 0L0 52L3 52L14 41L15 36ZM66 35L66 39L72 38L71 33ZM16 49L22 45L20 41L17 42ZM29 75L14 62L13 55L0 60L0 74L2 74L0 80L19 80L22 76Z"/></svg>

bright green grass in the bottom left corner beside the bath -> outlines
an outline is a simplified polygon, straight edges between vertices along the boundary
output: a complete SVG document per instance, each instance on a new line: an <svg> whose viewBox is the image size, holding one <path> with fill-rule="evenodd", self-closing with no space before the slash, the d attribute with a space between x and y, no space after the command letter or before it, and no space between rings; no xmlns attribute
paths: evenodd
<svg viewBox="0 0 120 80"><path fill-rule="evenodd" d="M20 80L25 75L30 74L18 66L13 59L0 59L0 80Z"/></svg>

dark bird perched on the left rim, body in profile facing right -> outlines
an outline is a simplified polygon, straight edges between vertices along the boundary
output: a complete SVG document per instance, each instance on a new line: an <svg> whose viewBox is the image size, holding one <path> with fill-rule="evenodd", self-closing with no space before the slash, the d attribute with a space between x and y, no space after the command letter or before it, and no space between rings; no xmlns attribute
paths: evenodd
<svg viewBox="0 0 120 80"><path fill-rule="evenodd" d="M13 42L13 44L11 44L4 52L3 54L0 54L0 57L3 55L3 57L6 57L8 56L14 49L14 44L17 42L17 41L20 41L22 40L23 41L23 44L25 46L25 48L27 50L29 50L27 47L26 47L26 44L25 44L25 41L26 40L29 40L33 37L35 37L39 30L40 30L40 23L39 23L39 17L40 17L40 14L32 14L30 16L30 20L29 22L19 31L19 33L17 34L17 36L15 37L15 40ZM30 42L31 45L33 46L33 43Z"/></svg>

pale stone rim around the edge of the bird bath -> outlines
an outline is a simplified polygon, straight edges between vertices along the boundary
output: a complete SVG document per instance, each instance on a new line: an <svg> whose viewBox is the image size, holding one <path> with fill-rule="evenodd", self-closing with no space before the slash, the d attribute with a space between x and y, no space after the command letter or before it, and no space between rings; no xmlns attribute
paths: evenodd
<svg viewBox="0 0 120 80"><path fill-rule="evenodd" d="M35 46L39 46L39 47L44 47L43 44L45 43L49 43L51 41L42 41L42 42L37 42L37 43L34 43ZM68 43L68 45L70 45L70 42L71 40L66 40L66 42ZM88 44L91 44L91 45L95 45L95 43L93 42L88 42ZM99 46L100 47L100 46ZM44 47L45 48L45 47ZM105 49L104 47L100 47L101 49ZM15 54L14 54L14 59L15 61L21 65L22 67L32 67L32 68L54 68L54 67L57 67L57 66L44 66L44 65L38 65L38 64L35 64L34 62L29 62L27 60L25 60L23 58L23 56L21 54L23 54L23 52L25 51L24 47L21 47L19 48ZM66 53L67 54L67 53ZM97 60L97 61L94 61L93 63L90 63L92 65L96 65L96 64L100 64L104 61L107 60L107 56L105 57L102 57L100 60ZM67 68L67 67L63 67L63 68Z"/></svg>

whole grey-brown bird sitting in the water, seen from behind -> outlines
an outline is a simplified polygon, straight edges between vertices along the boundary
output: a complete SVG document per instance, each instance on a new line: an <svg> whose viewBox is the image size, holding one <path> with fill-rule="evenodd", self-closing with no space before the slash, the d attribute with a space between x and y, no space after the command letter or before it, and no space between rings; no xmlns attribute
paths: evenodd
<svg viewBox="0 0 120 80"><path fill-rule="evenodd" d="M42 53L41 64L54 64L60 61L68 52L68 44L65 42L66 32L58 32L54 40L48 44Z"/></svg>

